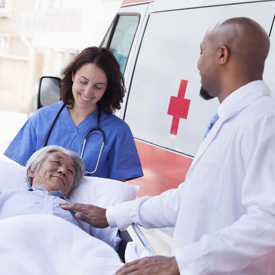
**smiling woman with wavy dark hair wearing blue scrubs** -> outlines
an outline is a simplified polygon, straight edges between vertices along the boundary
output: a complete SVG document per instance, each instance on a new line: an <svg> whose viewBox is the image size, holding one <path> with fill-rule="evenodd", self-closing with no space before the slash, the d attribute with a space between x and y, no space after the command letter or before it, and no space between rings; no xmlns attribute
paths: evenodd
<svg viewBox="0 0 275 275"><path fill-rule="evenodd" d="M105 133L105 145L97 171L91 176L131 180L143 176L133 135L127 123L113 115L120 109L125 93L124 78L114 55L101 47L79 53L62 72L62 101L37 110L21 128L5 151L5 156L25 165L30 156L44 146L47 133L63 103L47 145L60 145L81 155L84 137L97 126ZM86 171L94 171L102 135L90 134L82 160Z"/></svg>

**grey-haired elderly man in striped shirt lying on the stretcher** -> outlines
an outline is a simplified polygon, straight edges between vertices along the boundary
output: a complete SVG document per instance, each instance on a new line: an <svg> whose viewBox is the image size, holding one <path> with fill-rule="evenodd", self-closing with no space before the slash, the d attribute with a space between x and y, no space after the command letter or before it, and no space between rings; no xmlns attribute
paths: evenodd
<svg viewBox="0 0 275 275"><path fill-rule="evenodd" d="M75 218L75 211L63 210L59 202L70 202L85 171L84 163L72 151L47 146L35 152L26 164L28 190L0 192L0 219L26 214L48 214L63 218L90 233L90 226Z"/></svg>

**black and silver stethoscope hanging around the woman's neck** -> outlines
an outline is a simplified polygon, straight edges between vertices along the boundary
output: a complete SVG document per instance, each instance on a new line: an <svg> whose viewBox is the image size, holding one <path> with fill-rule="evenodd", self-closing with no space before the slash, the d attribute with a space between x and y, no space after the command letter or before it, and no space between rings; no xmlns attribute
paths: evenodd
<svg viewBox="0 0 275 275"><path fill-rule="evenodd" d="M60 110L58 111L58 113L57 113L55 119L53 120L53 124L51 125L50 130L49 130L49 132L48 132L48 134L47 134L47 137L46 137L46 140L45 140L45 143L44 143L44 147L47 146L48 139L49 139L49 137L50 137L50 133L51 133L51 131L52 131L52 129L53 129L54 123L56 122L56 120L57 120L59 114L61 113L61 111L63 110L64 107L65 107L65 103L61 106L61 108L60 108ZM102 134L102 145L101 145L100 153L99 153L99 156L98 156L98 159L97 159L97 165L96 165L96 168L94 169L93 172L87 172L87 171L85 171L85 174L88 174L88 176L90 176L90 174L93 174L95 171L97 171L97 166L98 166L98 163L99 163L99 160L100 160L100 157L101 157L101 153L102 153L102 150L103 150L103 147L104 147L104 143L105 143L105 134L104 134L103 130L102 130L101 128L99 128L100 114L101 114L101 110L100 110L100 107L98 107L97 127L91 129L91 130L86 134L86 136L85 136L85 138L84 138L84 142L83 142L83 147L82 147L81 156L80 156L80 158L82 159L83 152L84 152L84 148L85 148L85 144L86 144L86 140L87 140L87 138L89 137L89 135L92 134L92 133L100 134L99 132L101 132L101 134ZM93 132L94 130L97 130L97 131L99 131L99 132Z"/></svg>

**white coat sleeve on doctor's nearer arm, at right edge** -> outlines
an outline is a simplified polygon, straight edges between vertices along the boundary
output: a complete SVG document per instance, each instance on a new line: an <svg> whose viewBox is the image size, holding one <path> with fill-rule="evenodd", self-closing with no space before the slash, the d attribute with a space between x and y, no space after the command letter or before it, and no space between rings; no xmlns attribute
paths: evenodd
<svg viewBox="0 0 275 275"><path fill-rule="evenodd" d="M243 134L241 155L246 175L239 184L241 203L247 213L231 226L176 249L180 271L187 266L193 275L234 273L274 252L274 125L275 116L266 115L254 121Z"/></svg>

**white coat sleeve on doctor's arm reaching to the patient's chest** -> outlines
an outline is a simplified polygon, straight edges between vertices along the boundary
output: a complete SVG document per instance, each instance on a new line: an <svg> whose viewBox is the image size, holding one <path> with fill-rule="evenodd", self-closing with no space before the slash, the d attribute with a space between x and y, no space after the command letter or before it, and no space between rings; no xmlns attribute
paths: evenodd
<svg viewBox="0 0 275 275"><path fill-rule="evenodd" d="M108 207L106 217L111 227L124 230L132 223L144 228L173 227L181 202L181 189L170 189L159 196L145 196Z"/></svg>

